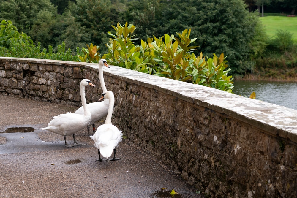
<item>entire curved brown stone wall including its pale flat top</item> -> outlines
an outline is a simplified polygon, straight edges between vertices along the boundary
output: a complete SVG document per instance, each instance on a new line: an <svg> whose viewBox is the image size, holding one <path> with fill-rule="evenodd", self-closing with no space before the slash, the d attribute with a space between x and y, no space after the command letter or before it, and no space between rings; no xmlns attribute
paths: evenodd
<svg viewBox="0 0 297 198"><path fill-rule="evenodd" d="M97 64L0 57L0 94L80 105L102 93ZM113 124L211 197L297 197L297 111L110 66ZM1 103L0 103L1 104Z"/></svg>

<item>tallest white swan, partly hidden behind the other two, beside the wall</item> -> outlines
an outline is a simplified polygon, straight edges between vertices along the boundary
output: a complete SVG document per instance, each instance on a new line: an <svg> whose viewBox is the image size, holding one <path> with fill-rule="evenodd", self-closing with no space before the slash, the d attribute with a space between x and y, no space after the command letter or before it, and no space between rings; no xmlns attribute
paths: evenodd
<svg viewBox="0 0 297 198"><path fill-rule="evenodd" d="M102 88L103 92L105 92L105 91L107 91L107 89L105 87L105 83L104 83L104 79L103 79L103 66L106 66L107 68L109 68L106 60L102 58L99 61L98 72L99 72L99 80L100 80L101 88ZM91 135L91 134L89 134L90 125L93 125L93 133L95 133L95 122L101 120L103 117L105 117L107 115L108 104L109 104L108 99L105 99L103 102L92 102L92 103L87 104L87 106L91 112L91 121L87 126L88 127L88 136ZM80 107L74 113L83 114L83 107Z"/></svg>

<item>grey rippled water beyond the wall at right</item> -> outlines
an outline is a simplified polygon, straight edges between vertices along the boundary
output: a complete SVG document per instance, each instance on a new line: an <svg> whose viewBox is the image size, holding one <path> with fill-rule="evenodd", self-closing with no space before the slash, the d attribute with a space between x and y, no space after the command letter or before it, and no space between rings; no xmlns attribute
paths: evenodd
<svg viewBox="0 0 297 198"><path fill-rule="evenodd" d="M297 110L296 82L265 82L235 80L233 93L249 97L253 91L256 100L285 106Z"/></svg>

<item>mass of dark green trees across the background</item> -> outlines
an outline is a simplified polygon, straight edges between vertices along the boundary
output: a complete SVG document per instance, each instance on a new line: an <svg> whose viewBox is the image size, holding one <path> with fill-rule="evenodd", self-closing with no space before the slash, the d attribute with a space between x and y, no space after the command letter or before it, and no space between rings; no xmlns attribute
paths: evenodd
<svg viewBox="0 0 297 198"><path fill-rule="evenodd" d="M283 2L285 5L287 0ZM165 34L178 38L178 32L191 29L191 37L197 38L191 45L199 46L193 51L196 57L201 52L206 57L224 53L229 73L245 75L268 54L269 44L257 13L246 8L242 0L0 0L0 20L11 20L20 34L30 35L41 52L49 52L48 46L57 52L64 42L64 48L70 48L75 58L95 62L97 57L89 57L94 55L92 50L84 47L92 43L98 57L108 53L107 32L115 35L112 26L118 22L137 27L133 33L139 38L133 41L135 46L142 46L141 40L149 43L148 38L159 39ZM81 57L75 56L77 47Z"/></svg>

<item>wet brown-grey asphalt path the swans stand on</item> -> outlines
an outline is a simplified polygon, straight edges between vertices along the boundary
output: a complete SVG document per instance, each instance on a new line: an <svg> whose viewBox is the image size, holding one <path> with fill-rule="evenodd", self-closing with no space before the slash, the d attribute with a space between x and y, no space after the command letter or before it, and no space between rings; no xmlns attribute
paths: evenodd
<svg viewBox="0 0 297 198"><path fill-rule="evenodd" d="M0 197L170 197L172 189L179 193L175 197L203 197L127 139L117 149L121 160L98 162L87 129L76 133L77 141L86 145L72 148L64 146L61 135L40 130L52 116L77 108L0 96L0 132L35 129L0 133Z"/></svg>

